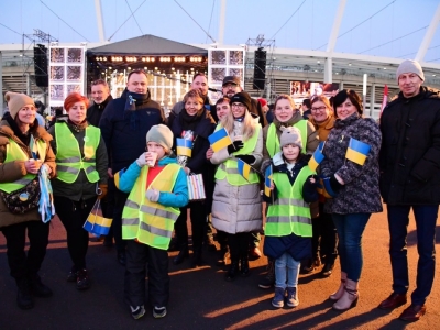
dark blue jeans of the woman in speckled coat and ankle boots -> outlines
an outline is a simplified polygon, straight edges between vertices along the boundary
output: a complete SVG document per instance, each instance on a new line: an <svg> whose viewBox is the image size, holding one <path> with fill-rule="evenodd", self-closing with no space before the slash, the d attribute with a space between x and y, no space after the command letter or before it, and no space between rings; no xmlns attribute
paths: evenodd
<svg viewBox="0 0 440 330"><path fill-rule="evenodd" d="M359 282L361 278L363 265L362 234L370 216L371 213L331 215L339 237L338 251L341 271L346 273L346 277L354 282Z"/></svg>

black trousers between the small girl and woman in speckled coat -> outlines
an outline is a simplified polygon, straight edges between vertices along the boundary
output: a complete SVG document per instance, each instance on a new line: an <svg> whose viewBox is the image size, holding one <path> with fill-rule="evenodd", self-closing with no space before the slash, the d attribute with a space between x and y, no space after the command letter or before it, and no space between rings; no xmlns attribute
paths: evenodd
<svg viewBox="0 0 440 330"><path fill-rule="evenodd" d="M338 256L338 232L331 215L319 204L319 217L311 219L311 249L314 257L320 256L323 263L334 263Z"/></svg>

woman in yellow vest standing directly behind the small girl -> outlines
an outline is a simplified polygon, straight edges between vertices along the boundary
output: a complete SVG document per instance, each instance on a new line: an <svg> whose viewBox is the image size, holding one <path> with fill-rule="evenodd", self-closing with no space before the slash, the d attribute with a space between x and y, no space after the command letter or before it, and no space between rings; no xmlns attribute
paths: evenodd
<svg viewBox="0 0 440 330"><path fill-rule="evenodd" d="M295 127L301 133L304 147L301 153L312 154L318 147L318 133L314 125L302 118L301 112L296 109L293 98L288 95L279 95L274 105L274 121L263 129L263 161L271 160L279 152L279 138L282 127ZM312 217L318 216L318 204L312 209ZM267 274L260 280L261 288L271 288L274 285L273 261L268 260Z"/></svg>

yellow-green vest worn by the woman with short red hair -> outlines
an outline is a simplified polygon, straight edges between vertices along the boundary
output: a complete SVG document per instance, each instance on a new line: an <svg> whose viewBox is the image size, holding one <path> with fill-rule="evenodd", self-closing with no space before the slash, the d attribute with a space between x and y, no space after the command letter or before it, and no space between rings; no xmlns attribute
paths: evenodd
<svg viewBox="0 0 440 330"><path fill-rule="evenodd" d="M55 124L55 140L57 144L56 170L57 178L72 184L84 169L90 183L99 180L99 173L96 170L96 151L101 138L98 128L89 125L84 136L84 158L79 150L79 143L66 123Z"/></svg>

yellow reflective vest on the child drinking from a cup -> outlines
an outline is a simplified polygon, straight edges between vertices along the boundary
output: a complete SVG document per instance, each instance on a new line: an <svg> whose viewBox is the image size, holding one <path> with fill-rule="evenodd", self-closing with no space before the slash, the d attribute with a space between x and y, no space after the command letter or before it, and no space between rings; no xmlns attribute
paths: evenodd
<svg viewBox="0 0 440 330"><path fill-rule="evenodd" d="M172 193L180 168L178 164L166 165L150 186ZM167 250L180 210L145 198L147 175L148 166L144 166L127 199L122 211L122 239L138 239L150 246Z"/></svg>

